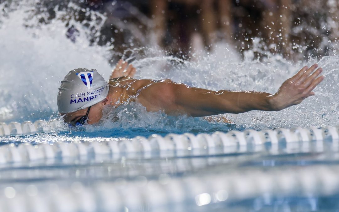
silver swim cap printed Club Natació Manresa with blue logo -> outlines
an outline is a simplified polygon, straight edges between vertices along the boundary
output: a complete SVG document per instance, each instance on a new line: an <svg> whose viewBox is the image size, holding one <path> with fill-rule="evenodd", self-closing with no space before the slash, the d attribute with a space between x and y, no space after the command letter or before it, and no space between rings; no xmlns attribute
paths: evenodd
<svg viewBox="0 0 339 212"><path fill-rule="evenodd" d="M106 98L108 90L108 84L97 70L74 69L61 81L57 98L59 113L88 108Z"/></svg>

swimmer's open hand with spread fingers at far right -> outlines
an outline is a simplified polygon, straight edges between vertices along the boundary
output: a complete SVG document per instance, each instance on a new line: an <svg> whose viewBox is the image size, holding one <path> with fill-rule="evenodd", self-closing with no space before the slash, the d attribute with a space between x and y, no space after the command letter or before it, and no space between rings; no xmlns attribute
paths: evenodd
<svg viewBox="0 0 339 212"><path fill-rule="evenodd" d="M314 64L311 68L305 66L296 75L287 79L279 88L278 92L272 95L271 104L275 111L280 111L292 105L300 104L309 96L314 96L312 91L325 77L320 76L322 68Z"/></svg>

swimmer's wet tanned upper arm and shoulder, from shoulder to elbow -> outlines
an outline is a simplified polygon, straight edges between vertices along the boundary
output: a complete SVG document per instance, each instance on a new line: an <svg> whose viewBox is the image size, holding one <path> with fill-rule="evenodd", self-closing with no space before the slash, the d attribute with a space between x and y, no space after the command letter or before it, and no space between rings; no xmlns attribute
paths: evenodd
<svg viewBox="0 0 339 212"><path fill-rule="evenodd" d="M163 80L143 89L138 101L147 111L162 110L168 115L187 114L194 117L225 113L224 107L216 107L222 101L215 91L194 88L171 80Z"/></svg>

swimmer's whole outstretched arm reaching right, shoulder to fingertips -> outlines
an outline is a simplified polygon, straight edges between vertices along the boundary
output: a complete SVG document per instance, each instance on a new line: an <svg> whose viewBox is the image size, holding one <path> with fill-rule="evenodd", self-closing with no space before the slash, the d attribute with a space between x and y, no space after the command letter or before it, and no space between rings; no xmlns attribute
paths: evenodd
<svg viewBox="0 0 339 212"><path fill-rule="evenodd" d="M149 86L144 95L161 98L160 101L152 98L152 104L161 102L159 107L167 114L185 113L199 117L251 110L280 111L315 95L312 90L324 79L324 76L318 77L321 68L314 72L317 67L317 64L309 69L304 67L287 79L274 95L254 91L210 91L173 82Z"/></svg>

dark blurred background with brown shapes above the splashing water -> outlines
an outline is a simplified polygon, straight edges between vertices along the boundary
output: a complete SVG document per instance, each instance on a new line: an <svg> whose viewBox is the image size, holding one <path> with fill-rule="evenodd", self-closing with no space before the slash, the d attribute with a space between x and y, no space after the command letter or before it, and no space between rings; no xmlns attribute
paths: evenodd
<svg viewBox="0 0 339 212"><path fill-rule="evenodd" d="M38 4L43 9L37 11L47 15L40 22L53 20L54 8L67 9L69 2L72 1ZM240 55L252 49L260 57L263 50L295 61L329 55L338 49L339 2L336 0L77 0L73 3L84 8L83 11L68 8L74 10L73 16L79 22L89 21L88 10L106 17L100 38L92 42L112 46L117 58L128 49L144 46L157 46L168 54L190 58L197 51L213 51L220 42L228 43ZM64 18L67 37L75 42L78 30L67 23L71 16L69 13Z"/></svg>

